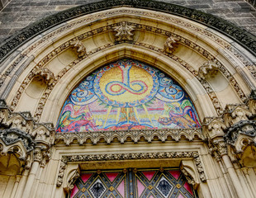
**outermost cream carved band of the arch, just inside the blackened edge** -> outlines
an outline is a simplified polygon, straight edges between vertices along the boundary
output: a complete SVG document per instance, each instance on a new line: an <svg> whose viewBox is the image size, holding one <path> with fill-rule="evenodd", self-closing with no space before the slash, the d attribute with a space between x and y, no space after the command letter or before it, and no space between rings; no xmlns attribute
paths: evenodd
<svg viewBox="0 0 256 198"><path fill-rule="evenodd" d="M25 55L30 54L32 50L36 50L37 47L40 47L41 44L45 43L51 37L54 37L55 35L59 35L63 31L70 30L70 29L73 29L78 26L81 27L81 26L83 26L83 24L88 23L88 21L93 21L93 20L96 20L97 18L106 17L106 16L114 16L116 14L117 15L118 14L127 14L127 15L128 14L138 15L139 14L141 16L147 16L147 17L151 17L154 19L157 18L159 20L171 22L174 26L183 28L183 31L187 31L187 29L190 29L191 31L194 31L195 33L200 33L200 35L205 35L209 39L214 40L218 45L222 45L225 49L230 50L230 52L232 54L235 54L235 56L238 57L239 59L243 59L243 60L246 59L244 57L244 55L239 54L239 52L235 51L235 48L230 46L230 44L228 42L225 42L225 40L220 39L218 36L214 35L210 31L206 31L204 28L201 28L200 26L192 25L191 23L185 21L184 19L181 19L180 17L170 16L170 15L164 14L164 13L149 12L149 11L145 11L145 10L141 10L141 9L121 7L121 8L113 8L111 11L105 11L105 12L101 12L101 13L91 14L89 16L81 16L81 18L79 18L78 20L71 22L68 25L64 25L56 31L52 31L49 34L44 35L43 38L41 38L41 39L39 38L39 41L36 41L36 43L34 45L31 45L28 50L26 50L25 52L20 54L17 58L17 61L19 59L22 59ZM198 36L200 36L200 35L198 35ZM244 62L244 61L242 61L242 62ZM247 61L247 63L248 63L248 61ZM13 68L16 65L17 64L12 64L12 66L8 69L8 71L2 75L3 80L5 78L7 78L9 73L12 72ZM249 67L249 70L252 73L255 73L255 69L253 67L254 64L249 63L249 64L247 64L247 66ZM0 86L1 86L1 83L0 83Z"/></svg>

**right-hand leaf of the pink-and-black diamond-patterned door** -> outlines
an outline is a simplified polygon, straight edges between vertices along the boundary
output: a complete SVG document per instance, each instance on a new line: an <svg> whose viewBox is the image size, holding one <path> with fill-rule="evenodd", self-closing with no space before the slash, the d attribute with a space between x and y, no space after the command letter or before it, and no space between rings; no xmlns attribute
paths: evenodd
<svg viewBox="0 0 256 198"><path fill-rule="evenodd" d="M160 168L134 171L135 197L192 198L197 197L192 186L178 169Z"/></svg>

